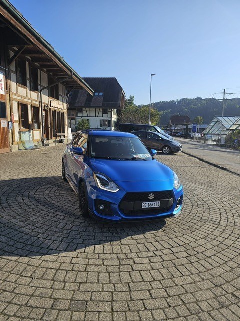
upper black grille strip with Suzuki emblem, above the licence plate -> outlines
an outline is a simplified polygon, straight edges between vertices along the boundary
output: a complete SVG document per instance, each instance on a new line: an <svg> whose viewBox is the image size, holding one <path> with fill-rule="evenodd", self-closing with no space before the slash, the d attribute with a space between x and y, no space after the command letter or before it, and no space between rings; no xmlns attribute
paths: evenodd
<svg viewBox="0 0 240 321"><path fill-rule="evenodd" d="M154 198L151 200L149 199L149 194L153 193ZM172 191L157 191L157 192L128 192L123 197L122 201L126 202L135 202L135 201L143 201L143 202L150 202L150 201L157 201L157 200L169 200L173 197Z"/></svg>

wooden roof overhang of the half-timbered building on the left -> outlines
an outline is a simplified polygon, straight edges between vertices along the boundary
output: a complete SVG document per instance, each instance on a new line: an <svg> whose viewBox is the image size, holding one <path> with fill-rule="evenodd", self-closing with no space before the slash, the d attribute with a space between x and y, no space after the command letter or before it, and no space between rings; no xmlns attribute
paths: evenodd
<svg viewBox="0 0 240 321"><path fill-rule="evenodd" d="M0 0L0 31L10 34L7 45L21 49L41 69L57 79L71 78L62 82L66 87L85 89L91 95L93 89L74 71L54 48L31 26L8 0ZM12 43L11 43L12 42Z"/></svg>

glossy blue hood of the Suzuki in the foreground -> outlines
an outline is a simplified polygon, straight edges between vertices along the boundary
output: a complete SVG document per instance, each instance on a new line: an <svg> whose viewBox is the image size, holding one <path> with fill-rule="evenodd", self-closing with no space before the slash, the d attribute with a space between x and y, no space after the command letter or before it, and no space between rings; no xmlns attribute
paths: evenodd
<svg viewBox="0 0 240 321"><path fill-rule="evenodd" d="M151 185L151 182L164 182L163 185L167 185L165 189L173 189L174 178L172 169L156 161L156 159L151 161L93 159L92 169L95 172L105 174L115 182L128 182L127 184L138 182L138 189L140 188L139 185L147 186ZM142 184L139 184L139 182L142 182ZM123 186L125 184L120 185Z"/></svg>

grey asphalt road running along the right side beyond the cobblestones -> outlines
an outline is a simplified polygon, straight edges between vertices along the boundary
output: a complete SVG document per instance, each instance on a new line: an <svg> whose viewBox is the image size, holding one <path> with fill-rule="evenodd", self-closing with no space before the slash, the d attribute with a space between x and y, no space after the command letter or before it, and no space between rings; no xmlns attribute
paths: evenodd
<svg viewBox="0 0 240 321"><path fill-rule="evenodd" d="M183 151L204 159L207 162L222 166L234 173L240 174L240 152L214 145L193 142L188 139L177 138L182 143Z"/></svg>

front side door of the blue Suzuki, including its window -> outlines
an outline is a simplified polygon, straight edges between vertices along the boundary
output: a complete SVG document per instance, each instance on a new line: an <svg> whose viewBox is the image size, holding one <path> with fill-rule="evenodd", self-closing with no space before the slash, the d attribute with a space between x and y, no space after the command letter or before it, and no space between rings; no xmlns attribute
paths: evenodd
<svg viewBox="0 0 240 321"><path fill-rule="evenodd" d="M71 162L72 162L72 180L76 188L78 188L78 182L81 177L83 177L83 172L85 169L84 156L87 148L87 139L88 134L81 133L76 147L81 147L83 149L83 155L77 155L72 153Z"/></svg>

